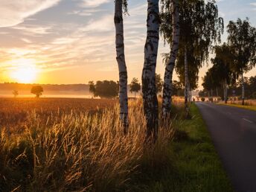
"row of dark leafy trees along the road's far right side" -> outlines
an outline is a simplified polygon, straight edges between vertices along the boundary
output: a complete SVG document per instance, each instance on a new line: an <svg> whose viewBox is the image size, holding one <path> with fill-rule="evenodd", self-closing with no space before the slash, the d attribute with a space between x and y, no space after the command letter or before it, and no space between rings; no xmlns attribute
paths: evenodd
<svg viewBox="0 0 256 192"><path fill-rule="evenodd" d="M228 42L214 47L215 57L211 59L213 66L203 77L202 86L208 95L213 90L223 93L225 103L230 96L240 95L242 104L246 97L253 97L255 92L255 77L245 79L244 74L256 65L256 28L252 27L249 19L237 19L228 23ZM240 88L240 90L237 90ZM254 91L253 91L254 90Z"/></svg>

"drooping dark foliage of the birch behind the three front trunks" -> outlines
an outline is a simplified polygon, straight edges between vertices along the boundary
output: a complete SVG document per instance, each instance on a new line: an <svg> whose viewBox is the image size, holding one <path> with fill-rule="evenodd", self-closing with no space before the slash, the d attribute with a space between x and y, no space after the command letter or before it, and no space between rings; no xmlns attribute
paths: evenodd
<svg viewBox="0 0 256 192"><path fill-rule="evenodd" d="M161 1L161 35L164 41L171 45L171 3L170 0ZM220 42L223 33L223 19L218 16L218 8L214 0L179 1L180 39L176 72L185 84L184 51L188 49L189 82L191 89L196 89L199 68L208 60L214 42ZM167 57L167 54L165 54Z"/></svg>

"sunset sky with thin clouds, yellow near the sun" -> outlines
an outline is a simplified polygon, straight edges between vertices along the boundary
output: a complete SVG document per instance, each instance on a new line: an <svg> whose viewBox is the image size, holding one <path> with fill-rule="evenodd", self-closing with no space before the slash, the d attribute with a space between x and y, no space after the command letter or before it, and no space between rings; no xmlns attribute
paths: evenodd
<svg viewBox="0 0 256 192"><path fill-rule="evenodd" d="M146 39L147 1L129 0L124 17L129 81L141 79ZM256 27L255 0L219 0L225 26L246 19ZM118 80L115 60L114 0L0 0L0 83L88 83ZM223 42L227 34L223 34ZM163 77L160 39L156 71ZM202 76L211 63L199 72ZM246 76L256 75L256 69ZM174 79L177 80L175 75Z"/></svg>

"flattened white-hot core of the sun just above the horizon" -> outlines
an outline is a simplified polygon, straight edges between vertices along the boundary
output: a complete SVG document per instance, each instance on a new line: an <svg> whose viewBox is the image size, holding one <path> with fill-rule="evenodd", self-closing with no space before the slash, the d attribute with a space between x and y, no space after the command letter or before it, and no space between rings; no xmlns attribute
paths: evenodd
<svg viewBox="0 0 256 192"><path fill-rule="evenodd" d="M10 77L17 80L19 83L33 83L36 80L35 68L17 68L11 72Z"/></svg>

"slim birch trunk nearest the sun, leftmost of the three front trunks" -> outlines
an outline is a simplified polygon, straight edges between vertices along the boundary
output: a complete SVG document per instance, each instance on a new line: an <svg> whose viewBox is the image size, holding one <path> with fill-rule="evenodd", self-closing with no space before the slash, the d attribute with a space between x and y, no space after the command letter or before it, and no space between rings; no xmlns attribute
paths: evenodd
<svg viewBox="0 0 256 192"><path fill-rule="evenodd" d="M119 70L120 119L124 132L128 128L127 65L124 56L123 0L115 0L115 46Z"/></svg>

